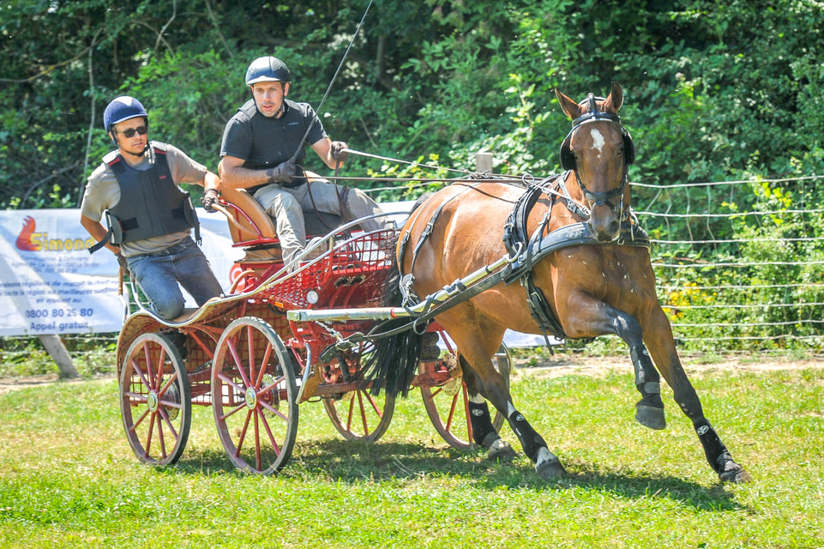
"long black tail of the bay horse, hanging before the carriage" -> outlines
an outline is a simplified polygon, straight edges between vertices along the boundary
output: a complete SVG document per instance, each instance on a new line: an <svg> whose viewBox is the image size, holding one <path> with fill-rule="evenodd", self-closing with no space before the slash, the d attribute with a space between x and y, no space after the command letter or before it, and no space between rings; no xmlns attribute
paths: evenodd
<svg viewBox="0 0 824 549"><path fill-rule="evenodd" d="M386 307L403 304L400 269L394 258L388 269L382 303ZM390 396L400 393L405 397L418 372L423 347L421 334L416 333L409 318L385 320L372 332L377 335L375 350L365 370L366 378L372 381L372 394L380 394L383 388ZM383 333L391 335L381 337Z"/></svg>

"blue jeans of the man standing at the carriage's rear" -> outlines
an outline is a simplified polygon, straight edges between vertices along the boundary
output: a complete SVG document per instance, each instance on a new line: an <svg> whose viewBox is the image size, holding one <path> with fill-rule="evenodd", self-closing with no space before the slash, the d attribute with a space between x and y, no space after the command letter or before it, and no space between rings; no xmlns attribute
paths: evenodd
<svg viewBox="0 0 824 549"><path fill-rule="evenodd" d="M184 299L178 282L198 305L223 291L206 256L191 237L162 252L135 255L127 261L131 276L162 319L172 320L183 314Z"/></svg>

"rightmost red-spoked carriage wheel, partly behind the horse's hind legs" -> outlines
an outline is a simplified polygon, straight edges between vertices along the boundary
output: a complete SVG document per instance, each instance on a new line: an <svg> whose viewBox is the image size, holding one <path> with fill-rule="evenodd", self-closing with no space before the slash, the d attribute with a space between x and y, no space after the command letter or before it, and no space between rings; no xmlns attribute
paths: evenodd
<svg viewBox="0 0 824 549"><path fill-rule="evenodd" d="M456 355L453 349L448 352L451 352L453 356ZM495 369L503 376L503 380L509 388L512 356L508 347L502 343L498 352L495 353L494 359ZM452 448L456 449L469 449L475 446L475 443L472 442L469 396L462 376L438 387L421 387L420 392L424 397L426 413L443 440L446 440ZM505 418L503 414L494 410L494 408L493 411L495 415L492 425L496 431L500 431Z"/></svg>

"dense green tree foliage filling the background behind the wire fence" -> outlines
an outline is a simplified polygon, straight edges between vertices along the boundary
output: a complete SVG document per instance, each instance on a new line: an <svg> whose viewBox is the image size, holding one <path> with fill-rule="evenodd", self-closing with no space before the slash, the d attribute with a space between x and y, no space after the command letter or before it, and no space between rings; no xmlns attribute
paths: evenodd
<svg viewBox="0 0 824 549"><path fill-rule="evenodd" d="M367 3L0 2L0 207L76 206L111 147L101 118L116 95L143 101L152 138L215 170L223 125L249 96L250 61L283 58L293 72L291 97L318 107ZM321 117L333 138L376 155L471 169L475 152L487 150L496 173L548 174L559 170L569 130L553 89L603 95L618 81L639 153L633 181L824 174L822 29L818 0L378 0ZM448 175L361 156L350 156L347 173ZM707 188L678 197L636 188L634 202L693 212L723 202L736 212L776 207L776 189L780 208L824 204L824 190L793 182L724 197ZM696 239L822 233L821 223L808 221L667 223L648 228ZM822 254L810 245L784 251ZM757 260L781 250L715 244L673 255L709 253ZM698 271L688 278L712 282Z"/></svg>

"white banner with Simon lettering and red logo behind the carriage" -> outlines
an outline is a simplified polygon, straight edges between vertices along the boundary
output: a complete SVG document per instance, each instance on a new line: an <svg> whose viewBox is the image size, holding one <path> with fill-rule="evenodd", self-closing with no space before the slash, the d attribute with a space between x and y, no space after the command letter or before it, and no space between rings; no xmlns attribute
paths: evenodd
<svg viewBox="0 0 824 549"><path fill-rule="evenodd" d="M406 212L411 201L382 203ZM201 249L215 276L230 286L241 249L232 248L226 219L197 208ZM396 221L403 222L403 216ZM80 225L80 210L0 212L0 336L118 332L124 305L118 295L118 264L107 249L91 255L94 240ZM194 300L186 296L186 306ZM525 296L526 299L526 296ZM509 347L545 344L541 336L508 331ZM550 341L558 340L550 337Z"/></svg>

